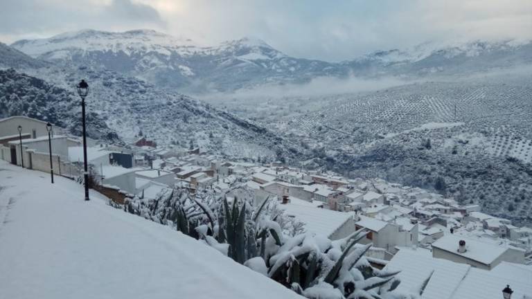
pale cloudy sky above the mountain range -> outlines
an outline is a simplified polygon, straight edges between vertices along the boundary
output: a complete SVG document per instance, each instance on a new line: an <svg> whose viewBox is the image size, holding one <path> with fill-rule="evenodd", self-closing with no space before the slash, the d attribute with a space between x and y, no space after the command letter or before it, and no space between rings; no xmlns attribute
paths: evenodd
<svg viewBox="0 0 532 299"><path fill-rule="evenodd" d="M85 28L151 28L204 45L254 36L339 61L424 42L531 39L532 0L1 0L0 42Z"/></svg>

